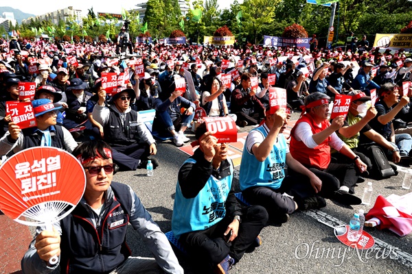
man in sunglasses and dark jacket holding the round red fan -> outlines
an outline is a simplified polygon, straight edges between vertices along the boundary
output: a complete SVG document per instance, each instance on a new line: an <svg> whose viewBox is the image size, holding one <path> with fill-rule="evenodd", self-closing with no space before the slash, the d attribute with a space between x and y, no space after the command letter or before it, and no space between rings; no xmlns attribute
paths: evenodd
<svg viewBox="0 0 412 274"><path fill-rule="evenodd" d="M53 223L53 232L37 227L21 260L23 272L49 273L60 265L67 273L183 273L168 239L136 193L112 181L111 147L100 140L86 141L73 155L84 167L86 191L71 214ZM130 256L128 225L117 220L130 223L155 258ZM52 256L59 257L58 264L49 264Z"/></svg>

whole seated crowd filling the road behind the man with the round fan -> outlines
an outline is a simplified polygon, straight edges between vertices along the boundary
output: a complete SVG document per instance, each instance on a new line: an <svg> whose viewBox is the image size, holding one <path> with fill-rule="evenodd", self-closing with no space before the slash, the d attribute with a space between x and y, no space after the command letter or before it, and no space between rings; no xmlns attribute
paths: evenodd
<svg viewBox="0 0 412 274"><path fill-rule="evenodd" d="M176 186L176 238L202 253L208 267L227 273L249 247L260 245L258 234L266 222L284 223L297 209L323 208L325 198L361 203L354 187L374 168L367 152L371 145L381 147L393 163L412 163L412 88L404 84L412 80L412 59L403 49L371 49L365 39L351 40L347 51L319 49L316 36L310 50L137 43L126 55L110 43L12 37L0 45L0 155L5 160L33 146L71 152L78 144L104 140L110 162L113 158L120 171L133 171L146 168L148 160L159 166L155 132L172 138L177 147L188 142L185 132L194 126L196 108L208 116L230 116L238 127L253 126L244 145L240 189L254 206L241 208L236 201L227 144L218 144L205 127L196 130L200 149L183 164ZM143 73L137 71L139 59ZM122 74L124 81L106 92L102 73ZM232 75L229 88L222 74ZM186 92L176 88L182 77ZM255 77L258 86L251 84ZM6 110L7 101L19 101L19 82L36 84L36 127L21 129ZM269 107L271 86L286 90L288 108ZM351 95L352 101L347 116L329 120L336 95ZM152 130L139 121L142 110L155 110ZM289 146L282 132L293 111L301 116ZM100 166L102 173L106 167ZM214 210L220 206L224 213L213 222L201 216L205 186L222 187ZM171 258L170 269L181 271ZM168 271L165 264L161 261Z"/></svg>

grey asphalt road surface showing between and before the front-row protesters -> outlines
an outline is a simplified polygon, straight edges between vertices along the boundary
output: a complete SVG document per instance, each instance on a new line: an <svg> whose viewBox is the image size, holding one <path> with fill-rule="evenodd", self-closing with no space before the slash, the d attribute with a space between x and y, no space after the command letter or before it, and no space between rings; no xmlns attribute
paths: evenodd
<svg viewBox="0 0 412 274"><path fill-rule="evenodd" d="M242 132L250 129L245 127ZM192 134L189 136L193 137ZM132 186L162 231L168 232L171 229L177 171L187 155L169 140L159 142L157 158L160 166L153 177L146 177L146 170L137 170L117 173L114 179ZM392 193L407 194L408 190L400 188L403 176L401 172L390 179L370 180L374 183L374 199L378 194L384 197ZM365 184L356 188L359 197ZM231 273L412 273L412 234L400 238L389 231L367 227L365 230L376 239L376 248L367 254L365 251L354 253L353 249L347 249L335 238L332 228L317 220L330 225L345 224L355 211L363 208L367 212L370 207L347 207L330 200L327 203L319 211L295 212L281 227L265 227L261 233L262 247L245 254L233 266ZM133 256L151 256L131 227L127 237ZM176 254L186 273L196 273L196 266L178 251Z"/></svg>

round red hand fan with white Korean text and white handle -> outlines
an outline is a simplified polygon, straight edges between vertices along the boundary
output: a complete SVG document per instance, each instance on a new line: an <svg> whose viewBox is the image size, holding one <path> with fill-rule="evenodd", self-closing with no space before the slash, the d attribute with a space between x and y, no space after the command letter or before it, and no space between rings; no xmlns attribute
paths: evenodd
<svg viewBox="0 0 412 274"><path fill-rule="evenodd" d="M86 175L80 162L55 147L32 147L0 167L0 210L23 225L45 225L65 218L80 201ZM56 264L57 257L50 259Z"/></svg>

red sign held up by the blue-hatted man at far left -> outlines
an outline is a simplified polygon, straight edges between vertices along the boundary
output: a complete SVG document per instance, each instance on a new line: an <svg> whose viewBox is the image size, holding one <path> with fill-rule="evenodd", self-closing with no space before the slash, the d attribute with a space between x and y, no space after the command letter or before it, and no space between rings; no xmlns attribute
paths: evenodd
<svg viewBox="0 0 412 274"><path fill-rule="evenodd" d="M19 125L21 129L36 127L36 117L34 117L32 102L6 101L6 109L10 112L12 122Z"/></svg>

